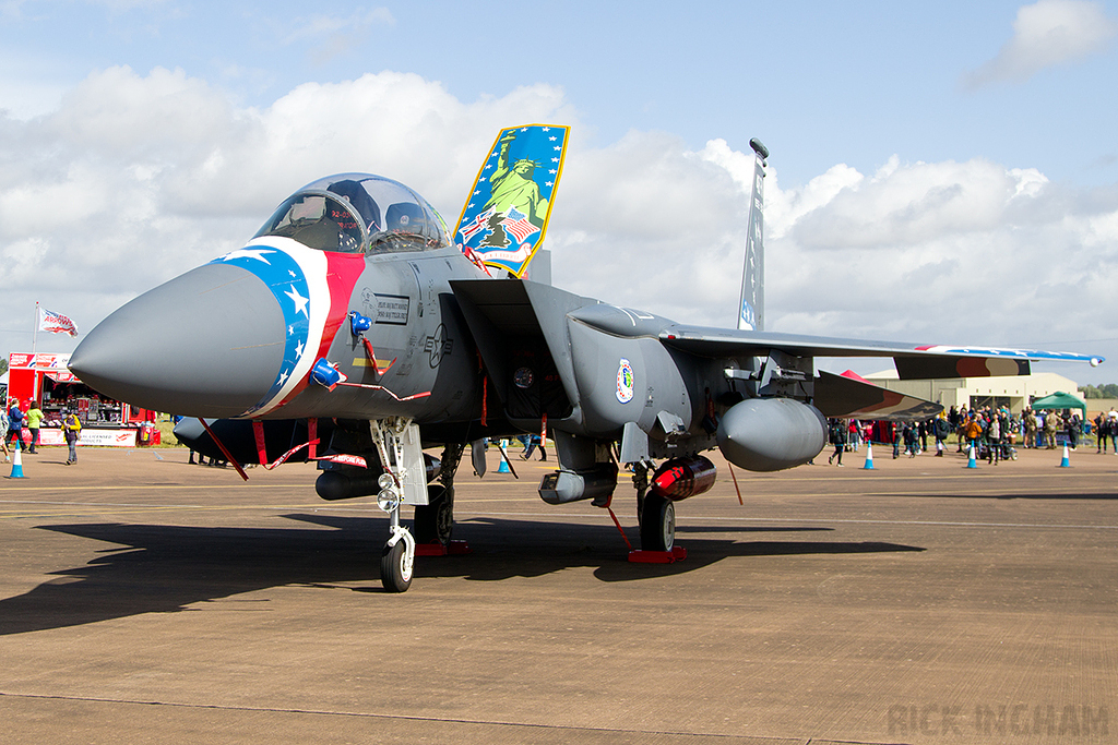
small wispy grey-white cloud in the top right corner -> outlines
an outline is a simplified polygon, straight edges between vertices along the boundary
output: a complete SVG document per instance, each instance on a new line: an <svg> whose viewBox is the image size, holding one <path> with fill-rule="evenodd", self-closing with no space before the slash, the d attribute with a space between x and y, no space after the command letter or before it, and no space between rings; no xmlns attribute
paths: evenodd
<svg viewBox="0 0 1118 745"><path fill-rule="evenodd" d="M1076 61L1102 48L1118 32L1101 2L1040 0L1022 6L1013 38L994 59L963 76L967 89L992 83L1022 83L1040 70Z"/></svg>

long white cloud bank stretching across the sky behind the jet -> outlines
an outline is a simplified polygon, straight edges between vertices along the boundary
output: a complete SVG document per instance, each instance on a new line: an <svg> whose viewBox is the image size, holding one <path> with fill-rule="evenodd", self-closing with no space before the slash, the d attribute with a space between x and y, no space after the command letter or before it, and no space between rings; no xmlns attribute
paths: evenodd
<svg viewBox="0 0 1118 745"><path fill-rule="evenodd" d="M557 285L682 323L732 324L748 150L711 141L694 152L655 132L589 149L563 92L543 85L463 102L381 73L252 108L179 70L126 67L91 75L47 115L0 117L0 313L30 318L35 300L49 300L87 331L236 248L329 173L398 179L453 222L495 132L529 122L574 125L548 237ZM980 159L900 157L783 189L778 153L771 163L769 328L1002 345L1112 335L1114 190L1077 192ZM0 335L8 350L29 341Z"/></svg>

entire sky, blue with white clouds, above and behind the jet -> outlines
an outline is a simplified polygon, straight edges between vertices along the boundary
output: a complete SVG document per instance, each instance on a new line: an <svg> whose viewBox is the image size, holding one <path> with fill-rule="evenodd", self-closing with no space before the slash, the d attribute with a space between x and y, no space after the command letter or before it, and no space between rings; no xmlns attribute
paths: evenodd
<svg viewBox="0 0 1118 745"><path fill-rule="evenodd" d="M88 331L329 173L453 221L496 131L544 122L572 127L559 286L733 325L756 136L769 329L1115 382L1116 37L1088 0L0 0L0 352L36 300Z"/></svg>

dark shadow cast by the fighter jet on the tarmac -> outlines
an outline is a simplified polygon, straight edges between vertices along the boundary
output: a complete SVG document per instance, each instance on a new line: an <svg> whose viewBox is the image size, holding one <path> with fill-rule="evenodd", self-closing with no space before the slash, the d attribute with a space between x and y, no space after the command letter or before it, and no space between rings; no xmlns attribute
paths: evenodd
<svg viewBox="0 0 1118 745"><path fill-rule="evenodd" d="M103 541L119 547L97 552L84 566L53 572L58 580L0 600L0 634L82 625L141 613L171 613L189 605L284 585L380 592L380 552L387 520L292 514L315 527L209 528L143 524L41 525L40 529ZM323 529L333 528L333 529ZM455 537L473 553L416 560L424 577L492 582L593 567L603 582L646 580L692 572L732 556L860 554L923 551L891 543L794 539L741 542L700 537L710 533L796 534L818 527L686 527L688 558L667 565L631 564L612 524L604 526L475 518L459 522ZM635 539L631 536L629 539Z"/></svg>

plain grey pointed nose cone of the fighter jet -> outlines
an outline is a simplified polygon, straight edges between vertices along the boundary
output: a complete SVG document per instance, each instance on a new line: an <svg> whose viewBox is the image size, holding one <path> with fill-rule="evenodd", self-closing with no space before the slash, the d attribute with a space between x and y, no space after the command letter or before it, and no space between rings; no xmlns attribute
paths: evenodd
<svg viewBox="0 0 1118 745"><path fill-rule="evenodd" d="M267 285L240 267L207 264L101 322L69 367L94 390L133 405L234 417L275 381L284 331Z"/></svg>

